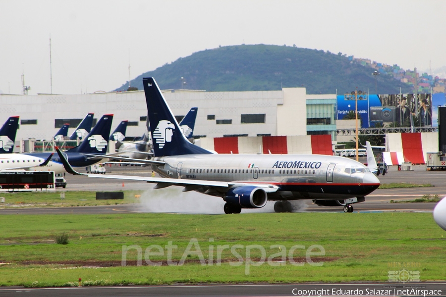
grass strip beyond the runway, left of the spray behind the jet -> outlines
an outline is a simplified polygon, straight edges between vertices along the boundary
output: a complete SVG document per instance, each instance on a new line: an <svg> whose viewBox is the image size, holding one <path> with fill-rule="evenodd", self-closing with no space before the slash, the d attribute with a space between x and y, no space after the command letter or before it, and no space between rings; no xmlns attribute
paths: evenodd
<svg viewBox="0 0 446 297"><path fill-rule="evenodd" d="M66 191L66 192L17 192L0 193L5 198L5 203L0 208L15 207L63 207L63 206L93 206L135 203L138 195L143 191L122 191L124 199L96 200L96 192ZM65 193L61 199L60 194Z"/></svg>

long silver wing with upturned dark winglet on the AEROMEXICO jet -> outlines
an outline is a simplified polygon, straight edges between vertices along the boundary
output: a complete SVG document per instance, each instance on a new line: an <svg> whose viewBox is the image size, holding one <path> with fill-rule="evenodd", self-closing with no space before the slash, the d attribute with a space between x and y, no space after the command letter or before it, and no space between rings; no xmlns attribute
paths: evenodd
<svg viewBox="0 0 446 297"><path fill-rule="evenodd" d="M156 178L156 177L146 177L146 176L128 176L128 175L103 175L103 174L85 174L79 173L71 167L71 165L66 160L65 156L56 147L57 154L60 157L60 160L65 167L66 172L74 175L86 175L88 177L96 177L96 178L111 178L111 179L120 179L120 180L133 180L133 181L144 181L147 183L157 184L155 189L166 188L169 186L182 186L185 187L183 192L193 191L199 189L201 187L217 187L217 188L229 188L232 186L247 186L252 185L255 187L262 188L267 193L274 193L279 188L275 185L264 183L243 183L243 182L219 182L219 181L204 181L204 180L188 180L188 179L179 179L179 178ZM148 160L149 161L149 160ZM164 163L161 161L152 161L158 163Z"/></svg>

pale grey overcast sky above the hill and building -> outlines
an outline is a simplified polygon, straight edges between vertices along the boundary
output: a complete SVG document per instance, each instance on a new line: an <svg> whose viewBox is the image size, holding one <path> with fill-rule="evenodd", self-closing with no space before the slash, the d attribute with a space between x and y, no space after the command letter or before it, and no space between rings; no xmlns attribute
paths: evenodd
<svg viewBox="0 0 446 297"><path fill-rule="evenodd" d="M446 66L445 0L0 0L0 90L111 91L193 52L330 50L424 71ZM181 74L178 74L181 76Z"/></svg>

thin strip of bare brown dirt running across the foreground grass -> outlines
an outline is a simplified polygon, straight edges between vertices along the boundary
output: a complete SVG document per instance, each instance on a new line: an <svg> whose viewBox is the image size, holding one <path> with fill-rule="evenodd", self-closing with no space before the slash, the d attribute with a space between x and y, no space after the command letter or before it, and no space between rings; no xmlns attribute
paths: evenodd
<svg viewBox="0 0 446 297"><path fill-rule="evenodd" d="M318 262L332 262L335 260L338 260L339 258L337 257L312 257L311 260L315 263ZM260 258L252 258L251 259L253 262L258 262L260 261ZM307 261L306 258L304 257L295 257L293 258L295 263L305 263ZM233 258L233 259L222 259L221 262L222 263L227 263L227 262L238 262L239 259L237 258ZM172 263L177 264L179 261L178 260L172 260ZM209 261L207 259L205 259L206 265L209 265ZM275 258L273 259L273 262L281 262L280 258ZM158 263L161 263L161 266L168 266L167 260L161 260L161 261L156 261L154 260L152 264L148 264L146 261L142 261L142 265L143 266L156 266L156 265L160 265ZM289 264L290 261L289 259L287 259L286 264ZM86 261L81 261L81 260L67 260L67 261L19 261L19 262L15 262L15 264L17 265L69 265L69 266L80 266L80 267L115 267L115 266L121 266L121 261L100 261L100 260L86 260ZM137 261L136 260L127 260L126 261L126 266L137 266ZM200 260L198 259L191 259L191 260L185 260L184 264L200 264ZM213 264L216 264L216 261L213 262ZM170 264L172 265L172 264Z"/></svg>

